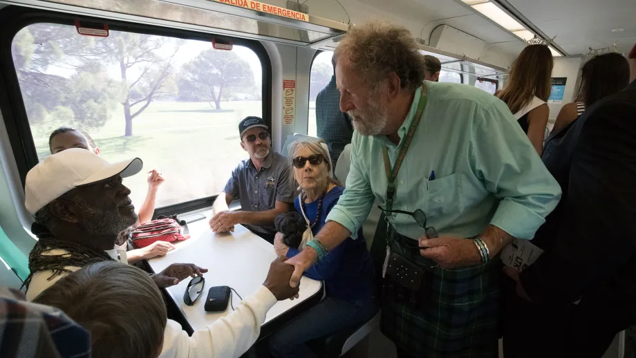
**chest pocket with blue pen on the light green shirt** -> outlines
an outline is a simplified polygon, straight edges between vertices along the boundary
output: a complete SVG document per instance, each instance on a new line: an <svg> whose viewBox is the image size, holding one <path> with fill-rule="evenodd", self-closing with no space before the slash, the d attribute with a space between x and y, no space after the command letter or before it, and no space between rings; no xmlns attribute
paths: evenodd
<svg viewBox="0 0 636 358"><path fill-rule="evenodd" d="M428 182L427 214L456 214L462 208L461 183L457 173Z"/></svg>

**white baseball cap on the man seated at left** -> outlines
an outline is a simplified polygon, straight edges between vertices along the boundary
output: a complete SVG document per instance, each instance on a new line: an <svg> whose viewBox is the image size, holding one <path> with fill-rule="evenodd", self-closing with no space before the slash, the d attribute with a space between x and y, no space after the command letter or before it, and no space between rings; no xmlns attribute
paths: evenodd
<svg viewBox="0 0 636 358"><path fill-rule="evenodd" d="M92 151L71 148L48 156L26 174L24 205L33 215L62 194L113 176L133 176L143 167L139 158L109 163Z"/></svg>

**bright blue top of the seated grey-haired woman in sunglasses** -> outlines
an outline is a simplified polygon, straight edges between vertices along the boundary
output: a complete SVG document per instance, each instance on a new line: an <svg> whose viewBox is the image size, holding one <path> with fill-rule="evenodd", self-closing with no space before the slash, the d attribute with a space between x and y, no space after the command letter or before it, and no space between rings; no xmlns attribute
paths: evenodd
<svg viewBox="0 0 636 358"><path fill-rule="evenodd" d="M322 202L320 223L312 230L317 234L325 225L325 219L331 208L338 202L344 187L334 187L325 194ZM300 211L300 198L294 200L294 207ZM316 220L318 201L305 204L305 214L310 223ZM297 249L290 247L287 257L296 256ZM318 263L312 265L305 276L310 279L325 281L327 296L346 301L362 301L371 299L373 294L373 262L371 254L366 249L366 240L362 236L362 229L357 239L346 238L340 245L330 250Z"/></svg>

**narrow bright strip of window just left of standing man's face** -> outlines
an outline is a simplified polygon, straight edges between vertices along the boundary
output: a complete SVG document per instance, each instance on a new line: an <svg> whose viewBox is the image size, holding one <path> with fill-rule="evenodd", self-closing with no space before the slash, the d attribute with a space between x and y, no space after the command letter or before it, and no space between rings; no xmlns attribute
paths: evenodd
<svg viewBox="0 0 636 358"><path fill-rule="evenodd" d="M316 97L325 88L333 77L333 64L331 58L333 51L322 51L314 57L309 75L309 113L307 122L307 135L317 137L316 127Z"/></svg>

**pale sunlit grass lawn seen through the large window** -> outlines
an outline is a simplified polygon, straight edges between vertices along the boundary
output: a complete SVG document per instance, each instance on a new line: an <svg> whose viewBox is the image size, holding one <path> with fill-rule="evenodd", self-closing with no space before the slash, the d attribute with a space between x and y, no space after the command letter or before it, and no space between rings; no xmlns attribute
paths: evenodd
<svg viewBox="0 0 636 358"><path fill-rule="evenodd" d="M158 169L166 181L156 207L212 196L223 190L230 172L247 158L238 139L238 122L247 115L261 115L261 102L222 102L221 110L207 102L153 102L133 120L133 136L124 137L124 116L117 109L93 136L101 155L111 162L138 157L144 171ZM315 122L315 121L314 121ZM32 127L38 156L49 155L50 128L66 123ZM147 191L147 176L140 173L124 180L140 207Z"/></svg>

